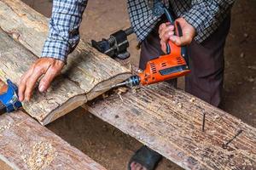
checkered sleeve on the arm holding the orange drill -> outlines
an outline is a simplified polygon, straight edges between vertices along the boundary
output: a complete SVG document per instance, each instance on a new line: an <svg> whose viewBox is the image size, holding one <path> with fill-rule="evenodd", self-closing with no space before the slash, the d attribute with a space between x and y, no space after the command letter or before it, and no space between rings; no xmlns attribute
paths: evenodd
<svg viewBox="0 0 256 170"><path fill-rule="evenodd" d="M219 23L221 17L227 14L235 0L192 0L191 8L183 14L183 18L195 27L197 34L209 36L210 27ZM201 37L206 39L207 37Z"/></svg>

